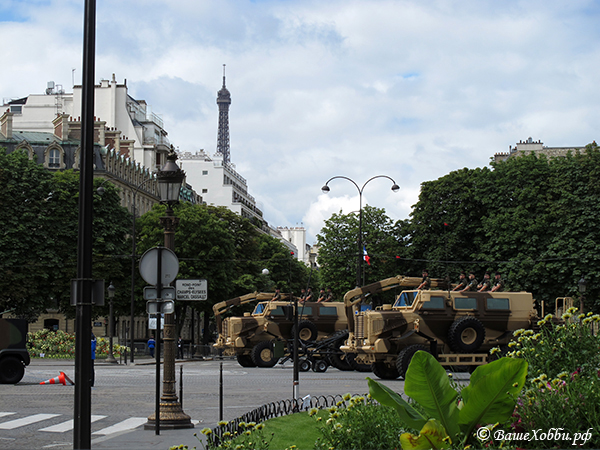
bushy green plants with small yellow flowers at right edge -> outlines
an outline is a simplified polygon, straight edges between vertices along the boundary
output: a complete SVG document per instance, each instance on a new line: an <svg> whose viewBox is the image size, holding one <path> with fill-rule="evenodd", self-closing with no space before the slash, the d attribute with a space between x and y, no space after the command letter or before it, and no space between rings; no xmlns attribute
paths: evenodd
<svg viewBox="0 0 600 450"><path fill-rule="evenodd" d="M517 402L511 431L521 436L529 432L532 436L536 430L555 430L551 438L536 439L535 448L576 444L599 448L600 315L577 315L572 308L563 318L566 323L556 324L551 316L545 317L537 333L515 332L517 340L508 356L525 359L529 376ZM578 442L574 442L576 436ZM530 447L531 443L518 444Z"/></svg>

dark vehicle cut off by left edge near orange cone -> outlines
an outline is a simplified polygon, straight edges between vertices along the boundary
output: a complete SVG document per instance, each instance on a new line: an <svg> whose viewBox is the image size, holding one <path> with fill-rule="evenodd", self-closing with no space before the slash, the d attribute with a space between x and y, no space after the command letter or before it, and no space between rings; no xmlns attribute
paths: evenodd
<svg viewBox="0 0 600 450"><path fill-rule="evenodd" d="M0 383L16 384L30 363L27 352L27 321L0 319Z"/></svg>

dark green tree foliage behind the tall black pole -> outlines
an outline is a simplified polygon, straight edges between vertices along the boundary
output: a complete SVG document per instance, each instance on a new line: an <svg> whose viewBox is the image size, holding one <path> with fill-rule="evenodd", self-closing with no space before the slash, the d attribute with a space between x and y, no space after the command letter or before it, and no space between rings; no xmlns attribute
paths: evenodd
<svg viewBox="0 0 600 450"><path fill-rule="evenodd" d="M99 185L101 180L95 180ZM23 151L0 151L0 312L34 321L48 307L68 317L76 277L79 172L51 173ZM118 282L130 218L114 187L94 195L93 277ZM94 314L104 314L95 308Z"/></svg>

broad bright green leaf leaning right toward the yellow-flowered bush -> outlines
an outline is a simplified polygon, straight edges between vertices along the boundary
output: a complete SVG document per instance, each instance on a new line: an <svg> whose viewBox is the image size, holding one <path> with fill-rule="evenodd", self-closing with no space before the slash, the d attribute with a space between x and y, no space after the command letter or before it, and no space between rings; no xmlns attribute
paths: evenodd
<svg viewBox="0 0 600 450"><path fill-rule="evenodd" d="M525 384L527 361L501 358L479 366L471 383L462 390L464 406L459 413L461 429L470 435L477 424L504 422L515 408L517 394Z"/></svg>

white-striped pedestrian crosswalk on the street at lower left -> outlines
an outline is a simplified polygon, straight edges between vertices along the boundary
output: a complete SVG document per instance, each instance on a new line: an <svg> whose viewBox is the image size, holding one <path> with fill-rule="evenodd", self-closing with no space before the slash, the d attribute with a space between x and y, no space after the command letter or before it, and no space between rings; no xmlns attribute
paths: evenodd
<svg viewBox="0 0 600 450"><path fill-rule="evenodd" d="M48 425L48 423L51 422L52 419L65 416L64 414L39 413L30 414L23 417L18 416L19 414L16 412L0 411L0 430L15 430L17 428L25 426L37 425L42 427L38 428L37 431L41 431L44 433L65 433L68 431L72 431L74 426L73 419L68 419L66 421L63 420L59 423L53 423L52 425ZM123 431L129 431L143 425L147 421L148 418L146 417L129 417L125 420L121 420L116 423L110 424L109 416L92 415L92 423L98 422L98 424L101 427L105 425L104 427L93 431L92 434L107 436Z"/></svg>

